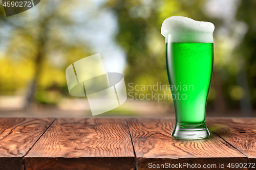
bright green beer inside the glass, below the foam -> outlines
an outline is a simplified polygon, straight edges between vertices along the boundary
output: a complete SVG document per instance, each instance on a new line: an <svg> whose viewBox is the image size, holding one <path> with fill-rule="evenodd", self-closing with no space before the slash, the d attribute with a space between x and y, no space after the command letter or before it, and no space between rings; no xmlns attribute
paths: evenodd
<svg viewBox="0 0 256 170"><path fill-rule="evenodd" d="M213 43L166 43L166 68L176 127L206 128L205 108L213 63Z"/></svg>

